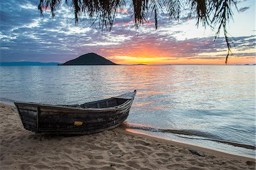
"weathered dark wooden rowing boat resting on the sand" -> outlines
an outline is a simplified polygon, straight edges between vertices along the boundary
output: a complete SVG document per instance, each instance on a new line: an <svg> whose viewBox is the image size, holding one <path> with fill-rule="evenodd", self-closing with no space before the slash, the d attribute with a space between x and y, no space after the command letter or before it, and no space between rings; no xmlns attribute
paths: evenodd
<svg viewBox="0 0 256 170"><path fill-rule="evenodd" d="M136 90L81 105L14 103L26 130L43 134L93 134L125 121L135 94Z"/></svg>

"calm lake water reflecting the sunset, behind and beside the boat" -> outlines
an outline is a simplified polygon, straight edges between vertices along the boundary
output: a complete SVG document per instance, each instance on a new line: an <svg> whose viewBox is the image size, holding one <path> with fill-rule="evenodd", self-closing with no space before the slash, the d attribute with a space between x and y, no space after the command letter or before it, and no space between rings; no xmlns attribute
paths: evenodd
<svg viewBox="0 0 256 170"><path fill-rule="evenodd" d="M137 89L125 127L255 156L254 66L0 67L0 81L2 99L51 104L84 103Z"/></svg>

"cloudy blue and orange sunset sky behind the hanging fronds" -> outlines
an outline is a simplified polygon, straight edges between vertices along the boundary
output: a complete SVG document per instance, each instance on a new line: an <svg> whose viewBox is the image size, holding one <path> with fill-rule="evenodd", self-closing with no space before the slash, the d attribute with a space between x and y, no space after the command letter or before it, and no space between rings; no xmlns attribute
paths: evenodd
<svg viewBox="0 0 256 170"><path fill-rule="evenodd" d="M70 7L61 6L53 19L42 17L37 0L0 2L0 61L58 62L94 52L117 64L225 64L225 39L214 41L216 29L196 26L195 19L181 15L179 22L160 14L158 29L148 18L135 28L129 1L119 10L112 31L82 17L75 26ZM228 64L255 63L255 1L241 0L233 9L228 32L236 47ZM185 11L185 10L184 10Z"/></svg>

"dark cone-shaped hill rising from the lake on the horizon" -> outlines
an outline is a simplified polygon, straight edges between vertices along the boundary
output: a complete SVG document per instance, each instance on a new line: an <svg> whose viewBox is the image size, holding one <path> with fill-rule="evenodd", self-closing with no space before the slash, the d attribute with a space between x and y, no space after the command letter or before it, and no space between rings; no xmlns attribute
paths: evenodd
<svg viewBox="0 0 256 170"><path fill-rule="evenodd" d="M61 65L116 65L96 53L86 53Z"/></svg>

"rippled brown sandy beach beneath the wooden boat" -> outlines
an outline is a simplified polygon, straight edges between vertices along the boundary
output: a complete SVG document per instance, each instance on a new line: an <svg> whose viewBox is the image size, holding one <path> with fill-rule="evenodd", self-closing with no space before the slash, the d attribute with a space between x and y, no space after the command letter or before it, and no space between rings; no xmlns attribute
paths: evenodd
<svg viewBox="0 0 256 170"><path fill-rule="evenodd" d="M0 104L0 120L1 169L255 169L252 158L122 128L81 136L34 134L10 105Z"/></svg>

